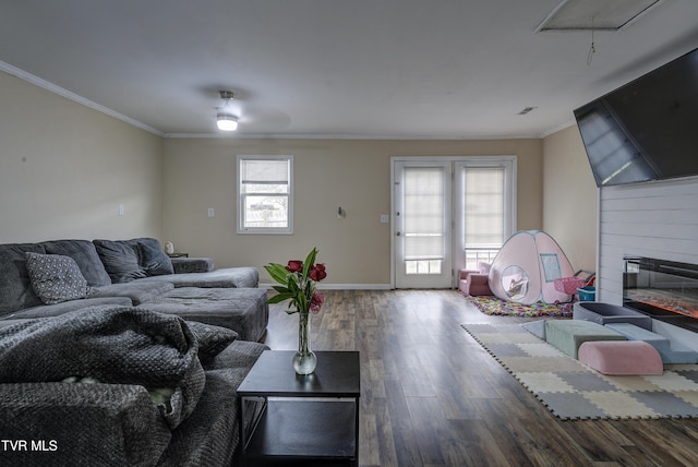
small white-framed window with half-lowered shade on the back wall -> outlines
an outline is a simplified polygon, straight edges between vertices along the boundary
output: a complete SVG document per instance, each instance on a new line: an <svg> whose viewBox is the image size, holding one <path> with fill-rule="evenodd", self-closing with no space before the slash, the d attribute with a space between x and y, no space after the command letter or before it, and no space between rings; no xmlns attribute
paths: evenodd
<svg viewBox="0 0 698 467"><path fill-rule="evenodd" d="M238 234L293 234L293 158L238 156Z"/></svg>

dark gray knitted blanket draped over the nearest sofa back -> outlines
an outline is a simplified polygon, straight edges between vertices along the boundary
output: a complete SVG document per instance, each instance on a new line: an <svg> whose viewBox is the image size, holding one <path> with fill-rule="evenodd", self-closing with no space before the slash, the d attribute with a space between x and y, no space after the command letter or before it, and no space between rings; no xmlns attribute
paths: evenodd
<svg viewBox="0 0 698 467"><path fill-rule="evenodd" d="M205 384L198 344L184 320L130 307L94 307L0 328L0 383L97 380L170 394L170 428Z"/></svg>

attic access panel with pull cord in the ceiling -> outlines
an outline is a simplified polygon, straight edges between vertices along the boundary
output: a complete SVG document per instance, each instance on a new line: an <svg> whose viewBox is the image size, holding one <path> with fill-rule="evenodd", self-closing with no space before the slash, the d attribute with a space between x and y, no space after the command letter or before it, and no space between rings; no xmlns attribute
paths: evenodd
<svg viewBox="0 0 698 467"><path fill-rule="evenodd" d="M564 0L535 29L618 31L662 0Z"/></svg>

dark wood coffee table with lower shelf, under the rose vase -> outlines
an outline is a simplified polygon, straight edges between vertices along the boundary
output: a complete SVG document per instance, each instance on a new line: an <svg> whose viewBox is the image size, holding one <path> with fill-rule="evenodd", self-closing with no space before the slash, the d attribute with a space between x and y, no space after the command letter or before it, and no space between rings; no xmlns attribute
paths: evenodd
<svg viewBox="0 0 698 467"><path fill-rule="evenodd" d="M242 462L357 466L359 352L317 351L315 372L305 376L293 371L293 354L264 351L238 388Z"/></svg>

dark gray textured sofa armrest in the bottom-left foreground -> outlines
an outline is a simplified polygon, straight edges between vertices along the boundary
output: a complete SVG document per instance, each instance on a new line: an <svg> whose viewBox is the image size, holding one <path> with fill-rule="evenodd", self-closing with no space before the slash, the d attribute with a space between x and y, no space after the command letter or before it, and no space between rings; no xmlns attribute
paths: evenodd
<svg viewBox="0 0 698 467"><path fill-rule="evenodd" d="M1 465L157 464L171 433L143 386L0 384Z"/></svg>

